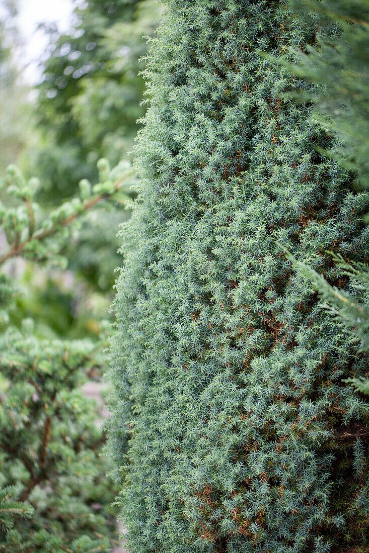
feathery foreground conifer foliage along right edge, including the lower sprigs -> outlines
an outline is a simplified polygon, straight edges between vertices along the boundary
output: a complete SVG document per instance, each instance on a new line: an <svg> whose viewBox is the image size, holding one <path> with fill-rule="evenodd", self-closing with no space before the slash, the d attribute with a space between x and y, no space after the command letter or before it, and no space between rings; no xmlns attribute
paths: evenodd
<svg viewBox="0 0 369 553"><path fill-rule="evenodd" d="M317 121L339 138L339 146L331 150L344 167L355 171L357 184L368 186L369 155L369 4L357 0L344 2L304 0L295 2L304 17L314 17L320 28L335 25L335 35L319 36L318 45L309 54L299 52L298 65L291 69L305 80L324 85L314 100ZM305 8L305 11L304 11ZM367 221L367 215L364 217ZM338 259L340 262L340 260ZM329 310L351 332L361 349L369 346L368 303L359 303L342 290L331 286L311 268L298 266L312 279ZM369 293L369 267L341 263L342 272L352 279L351 285ZM366 298L367 300L367 298ZM369 393L369 380L354 380L361 392Z"/></svg>

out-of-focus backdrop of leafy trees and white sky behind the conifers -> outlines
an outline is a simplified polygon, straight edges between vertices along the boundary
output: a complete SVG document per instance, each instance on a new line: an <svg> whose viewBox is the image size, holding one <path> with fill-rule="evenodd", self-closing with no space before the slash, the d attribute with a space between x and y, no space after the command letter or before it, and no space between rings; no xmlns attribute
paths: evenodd
<svg viewBox="0 0 369 553"><path fill-rule="evenodd" d="M45 212L77 195L81 179L98 182L100 158L111 166L130 159L145 113L146 37L160 16L156 0L0 1L1 175L16 163L26 178L36 176ZM119 200L85 216L65 246L67 266L10 263L22 291L11 323L31 317L38 338L98 341L111 318L116 232L127 217ZM103 372L84 387L99 424L109 391Z"/></svg>

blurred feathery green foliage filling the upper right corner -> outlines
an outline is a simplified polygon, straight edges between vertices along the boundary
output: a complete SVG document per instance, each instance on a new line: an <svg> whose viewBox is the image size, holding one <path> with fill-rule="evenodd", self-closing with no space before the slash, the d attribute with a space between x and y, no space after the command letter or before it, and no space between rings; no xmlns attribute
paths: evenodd
<svg viewBox="0 0 369 553"><path fill-rule="evenodd" d="M294 0L319 34L315 48L298 53L296 75L323 85L312 96L317 121L337 135L332 154L369 185L369 3L366 0ZM329 35L324 31L329 29Z"/></svg>

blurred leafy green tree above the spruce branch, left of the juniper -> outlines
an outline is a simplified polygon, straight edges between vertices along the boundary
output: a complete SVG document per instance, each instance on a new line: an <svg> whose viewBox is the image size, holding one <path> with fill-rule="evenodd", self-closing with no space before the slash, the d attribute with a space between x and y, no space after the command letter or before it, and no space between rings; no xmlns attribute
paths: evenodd
<svg viewBox="0 0 369 553"><path fill-rule="evenodd" d="M156 0L88 0L75 8L70 34L49 30L35 110L41 143L29 170L48 201L72 195L82 178L96 181L102 156L127 157L144 113L139 60L160 12Z"/></svg>

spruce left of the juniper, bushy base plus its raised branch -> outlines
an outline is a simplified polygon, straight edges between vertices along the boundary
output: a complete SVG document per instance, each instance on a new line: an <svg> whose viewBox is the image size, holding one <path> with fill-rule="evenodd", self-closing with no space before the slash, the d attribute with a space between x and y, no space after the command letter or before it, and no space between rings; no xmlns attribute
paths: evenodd
<svg viewBox="0 0 369 553"><path fill-rule="evenodd" d="M102 553L117 542L101 415L82 388L101 370L106 337L46 340L30 319L20 328L9 324L20 294L12 276L17 264L9 262L65 262L63 246L80 217L103 200L123 200L127 168L111 171L104 160L99 166L101 182L81 182L80 197L47 216L35 200L37 180L11 167L5 181L11 199L0 203L0 551L6 553Z"/></svg>

